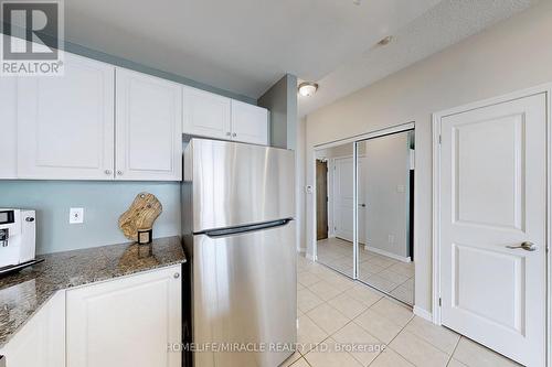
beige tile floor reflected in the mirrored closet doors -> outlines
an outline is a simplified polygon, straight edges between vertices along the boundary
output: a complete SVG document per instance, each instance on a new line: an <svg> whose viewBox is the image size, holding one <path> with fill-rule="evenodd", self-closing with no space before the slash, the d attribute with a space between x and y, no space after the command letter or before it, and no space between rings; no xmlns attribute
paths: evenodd
<svg viewBox="0 0 552 367"><path fill-rule="evenodd" d="M339 238L317 242L318 261L352 277L352 244ZM361 247L359 279L392 296L414 304L414 262L402 262Z"/></svg>

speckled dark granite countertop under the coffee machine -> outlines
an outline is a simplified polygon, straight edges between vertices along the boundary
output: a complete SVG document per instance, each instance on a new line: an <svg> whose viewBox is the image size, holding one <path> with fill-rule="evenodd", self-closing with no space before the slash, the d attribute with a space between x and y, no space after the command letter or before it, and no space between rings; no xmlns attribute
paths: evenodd
<svg viewBox="0 0 552 367"><path fill-rule="evenodd" d="M151 246L155 249L153 251L151 250ZM182 248L182 241L179 236L153 239L153 244L151 246L149 256L146 256L146 259L149 260L149 258L155 258L159 263L142 262L144 258L141 255L136 257L136 253L140 252L140 250L137 250L137 245L127 242L39 256L38 258L45 258L46 260L38 265L36 268L33 266L30 270L26 270L26 273L22 270L22 274L18 273L17 276L13 276L20 278L8 279L10 276L6 277L4 280L8 287L0 289L0 295L2 291L15 288L15 293L21 293L21 295L18 294L21 299L18 296L15 298L15 301L11 299L12 303L10 304L10 293L8 293L8 303L4 301L0 304L0 306L3 306L3 309L0 310L0 330L4 328L7 331L4 332L4 335L0 335L0 354L4 352L3 349L8 343L10 343L10 341L13 339L13 337L29 323L29 321L34 317L59 292L65 292L75 288L94 285L96 283L108 282L119 278L181 266L188 262ZM131 251L130 253L135 256L135 258L130 257L130 259L128 259L126 255L128 255L129 251ZM73 273L70 270L66 270L66 272L62 271L61 273L63 273L63 276L56 273L56 266L63 268L63 266L67 265L67 268L78 268L81 265L78 261L82 261L83 258L87 259L91 253L95 255L103 261L107 260L107 265L99 261L97 270L94 266L92 266L92 272L91 268L83 269L82 274L79 271ZM56 263L56 261L61 261L62 265ZM113 261L113 263L109 261ZM86 271L88 271L88 273L86 273ZM2 279L0 279L0 283L1 280ZM29 281L33 281L31 292L29 292L29 290L23 285ZM17 287L22 288L17 289ZM35 302L31 306L25 304L25 302L28 302L25 299L28 293L31 295L29 299L34 300ZM41 293L42 296L40 295ZM12 304L15 305L10 309ZM15 316L11 313L12 311L15 311ZM12 328L10 330L10 327Z"/></svg>

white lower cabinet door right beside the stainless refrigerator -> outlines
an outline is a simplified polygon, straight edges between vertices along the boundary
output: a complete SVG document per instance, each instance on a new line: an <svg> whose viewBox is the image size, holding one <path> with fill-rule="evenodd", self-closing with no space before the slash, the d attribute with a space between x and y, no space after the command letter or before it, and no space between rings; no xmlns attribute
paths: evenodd
<svg viewBox="0 0 552 367"><path fill-rule="evenodd" d="M181 267L67 291L67 367L180 367Z"/></svg>

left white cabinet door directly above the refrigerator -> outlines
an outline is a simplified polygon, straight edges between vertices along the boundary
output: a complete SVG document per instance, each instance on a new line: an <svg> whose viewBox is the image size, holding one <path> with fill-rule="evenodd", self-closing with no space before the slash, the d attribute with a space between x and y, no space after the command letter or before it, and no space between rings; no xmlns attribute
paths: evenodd
<svg viewBox="0 0 552 367"><path fill-rule="evenodd" d="M183 133L230 139L230 98L184 87Z"/></svg>

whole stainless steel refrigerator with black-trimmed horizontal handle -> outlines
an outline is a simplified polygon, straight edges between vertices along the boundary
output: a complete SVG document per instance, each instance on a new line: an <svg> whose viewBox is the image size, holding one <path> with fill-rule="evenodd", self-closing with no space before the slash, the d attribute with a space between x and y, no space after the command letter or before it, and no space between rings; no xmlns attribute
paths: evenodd
<svg viewBox="0 0 552 367"><path fill-rule="evenodd" d="M182 228L195 367L277 367L297 339L295 155L192 139Z"/></svg>

